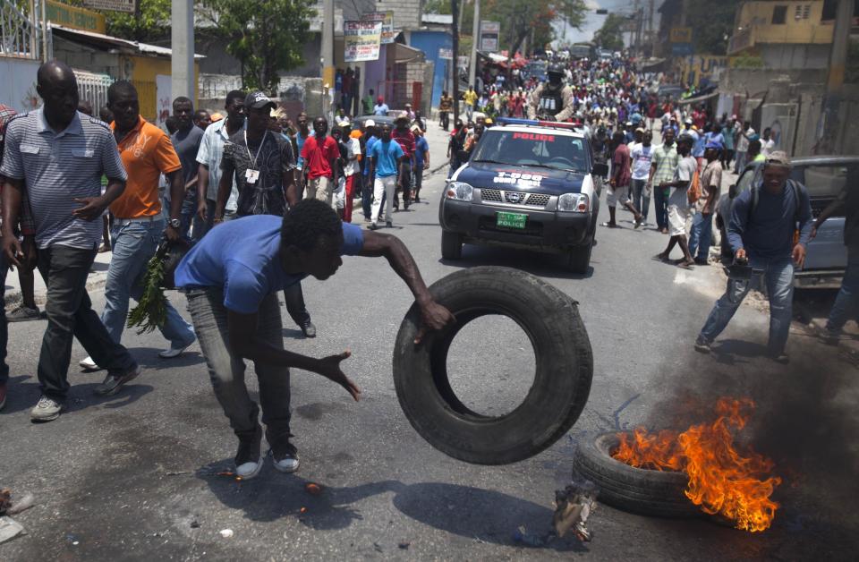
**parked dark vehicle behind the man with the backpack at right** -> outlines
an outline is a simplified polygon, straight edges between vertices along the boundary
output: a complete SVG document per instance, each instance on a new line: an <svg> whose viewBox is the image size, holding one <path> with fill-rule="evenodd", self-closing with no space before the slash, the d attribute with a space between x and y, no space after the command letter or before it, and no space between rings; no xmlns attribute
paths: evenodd
<svg viewBox="0 0 859 562"><path fill-rule="evenodd" d="M813 156L793 160L791 178L804 184L812 203L812 217L826 209L840 192L847 180L847 168L859 166L859 157ZM722 257L733 259L733 251L727 243L727 224L730 221L731 202L740 193L752 186L760 185L763 162L745 166L742 175L728 192L719 199L716 209L716 226L722 234ZM855 186L859 189L859 186ZM797 270L794 285L797 288L838 288L847 267L847 251L844 245L844 217L831 217L817 231L817 236L808 244L805 264Z"/></svg>

